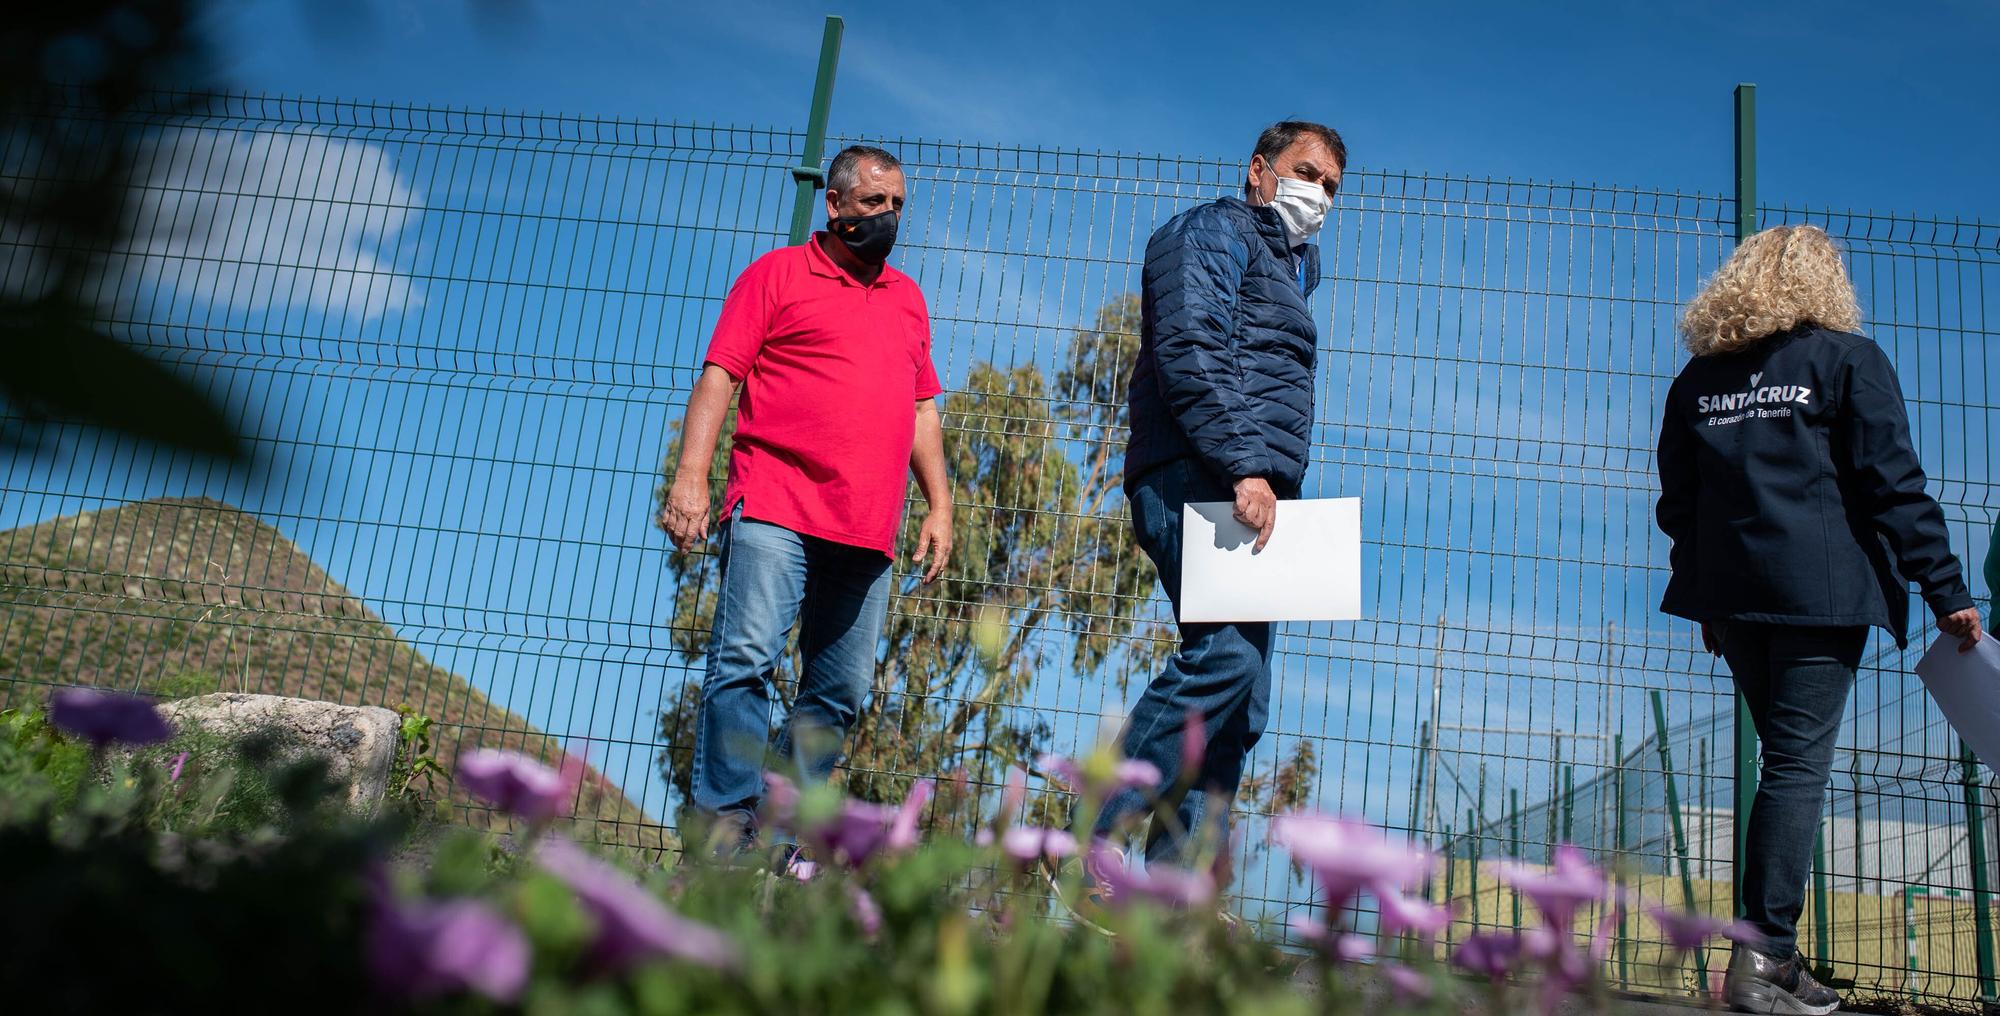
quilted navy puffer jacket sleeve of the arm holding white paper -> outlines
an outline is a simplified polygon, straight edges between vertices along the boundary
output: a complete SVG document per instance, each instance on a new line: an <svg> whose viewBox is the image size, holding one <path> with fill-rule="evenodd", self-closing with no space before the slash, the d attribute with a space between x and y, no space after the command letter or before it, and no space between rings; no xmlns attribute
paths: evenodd
<svg viewBox="0 0 2000 1016"><path fill-rule="evenodd" d="M1236 362L1236 290L1248 264L1234 230L1190 222L1146 252L1144 276L1160 398L1196 454L1232 480L1272 472Z"/></svg>

